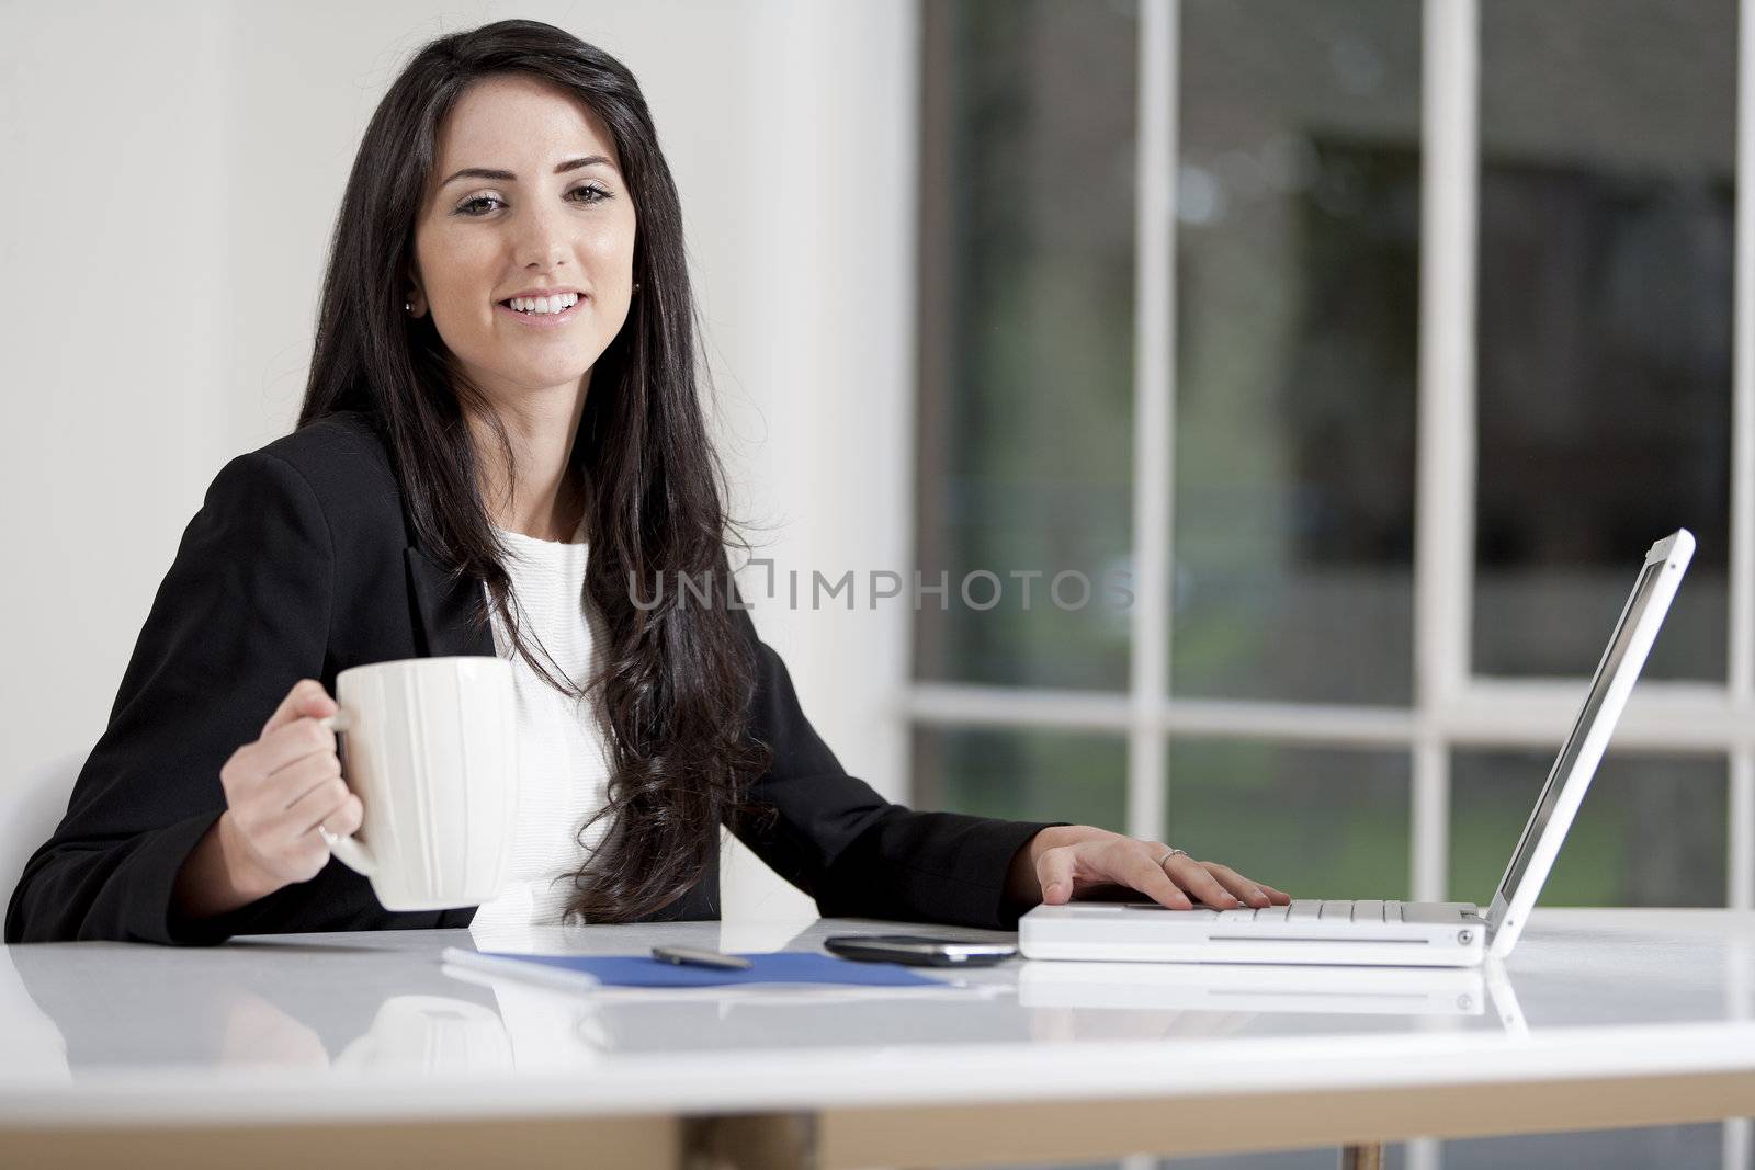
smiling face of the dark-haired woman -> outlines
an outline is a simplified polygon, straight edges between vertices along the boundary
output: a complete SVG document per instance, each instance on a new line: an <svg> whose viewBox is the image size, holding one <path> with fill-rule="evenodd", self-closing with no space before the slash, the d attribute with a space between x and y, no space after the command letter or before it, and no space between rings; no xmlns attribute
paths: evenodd
<svg viewBox="0 0 1755 1170"><path fill-rule="evenodd" d="M570 407L628 316L634 279L634 200L604 123L537 79L470 86L439 132L414 263L412 314L432 312L495 403ZM579 296L562 314L509 303L562 291Z"/></svg>

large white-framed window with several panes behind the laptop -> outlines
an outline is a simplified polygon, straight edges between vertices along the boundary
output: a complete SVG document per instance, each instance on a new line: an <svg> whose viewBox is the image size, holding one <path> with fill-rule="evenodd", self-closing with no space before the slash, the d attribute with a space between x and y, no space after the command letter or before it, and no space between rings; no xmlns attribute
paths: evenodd
<svg viewBox="0 0 1755 1170"><path fill-rule="evenodd" d="M1755 905L1737 2L921 14L914 796L1485 900L1687 526L1543 902Z"/></svg>

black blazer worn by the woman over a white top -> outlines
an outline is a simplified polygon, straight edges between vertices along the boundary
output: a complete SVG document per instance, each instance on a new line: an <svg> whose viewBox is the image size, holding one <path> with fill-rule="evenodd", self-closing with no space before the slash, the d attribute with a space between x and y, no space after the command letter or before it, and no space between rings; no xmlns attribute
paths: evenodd
<svg viewBox="0 0 1755 1170"><path fill-rule="evenodd" d="M7 942L116 938L214 944L232 935L467 926L474 907L391 912L330 860L305 882L209 919L172 889L225 810L219 768L304 677L333 695L360 663L495 653L469 610L481 582L446 581L414 535L383 440L358 412L319 419L214 477L158 588L109 724L67 816L30 858ZM774 749L751 798L779 816L734 826L825 916L1013 928L1006 872L1044 828L890 803L846 774L799 707L784 663L756 637L753 733ZM714 844L714 858L716 858ZM720 914L718 867L655 919Z"/></svg>

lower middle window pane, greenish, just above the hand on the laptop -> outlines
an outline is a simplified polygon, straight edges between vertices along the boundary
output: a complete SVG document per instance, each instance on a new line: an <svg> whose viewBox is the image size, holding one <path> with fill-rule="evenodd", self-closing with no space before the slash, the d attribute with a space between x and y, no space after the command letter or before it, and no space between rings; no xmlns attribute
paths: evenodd
<svg viewBox="0 0 1755 1170"><path fill-rule="evenodd" d="M1164 840L1293 898L1406 898L1408 753L1171 740Z"/></svg>

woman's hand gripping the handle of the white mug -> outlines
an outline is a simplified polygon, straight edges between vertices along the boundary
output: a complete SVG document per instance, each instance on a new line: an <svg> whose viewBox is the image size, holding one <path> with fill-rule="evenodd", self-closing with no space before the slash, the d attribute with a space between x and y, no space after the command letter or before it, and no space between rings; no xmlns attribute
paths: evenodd
<svg viewBox="0 0 1755 1170"><path fill-rule="evenodd" d="M240 884L291 886L311 881L330 860L318 824L347 837L365 807L340 779L335 733L319 721L335 700L316 679L300 679L261 728L219 768L235 854L249 867ZM223 828L223 826L221 826ZM233 851L226 851L228 856Z"/></svg>

